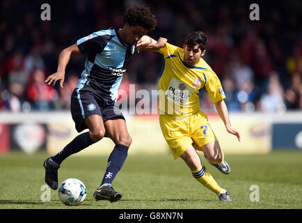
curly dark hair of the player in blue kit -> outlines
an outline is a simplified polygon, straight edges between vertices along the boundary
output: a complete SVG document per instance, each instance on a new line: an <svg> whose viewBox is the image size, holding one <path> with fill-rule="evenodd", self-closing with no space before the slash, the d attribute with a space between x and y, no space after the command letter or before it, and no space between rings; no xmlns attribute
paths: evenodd
<svg viewBox="0 0 302 223"><path fill-rule="evenodd" d="M150 12L149 7L133 6L127 8L124 15L124 22L130 26L142 26L148 31L152 31L157 26L155 15Z"/></svg>

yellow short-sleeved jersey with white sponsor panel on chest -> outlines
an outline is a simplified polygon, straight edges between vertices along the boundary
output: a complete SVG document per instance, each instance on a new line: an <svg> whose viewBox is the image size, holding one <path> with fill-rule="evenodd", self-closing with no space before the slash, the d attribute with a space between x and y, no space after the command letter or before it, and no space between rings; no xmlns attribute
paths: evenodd
<svg viewBox="0 0 302 223"><path fill-rule="evenodd" d="M220 80L202 58L196 66L188 66L184 49L169 43L154 52L164 57L159 79L159 114L196 114L200 110L198 93L204 86L212 102L225 98Z"/></svg>

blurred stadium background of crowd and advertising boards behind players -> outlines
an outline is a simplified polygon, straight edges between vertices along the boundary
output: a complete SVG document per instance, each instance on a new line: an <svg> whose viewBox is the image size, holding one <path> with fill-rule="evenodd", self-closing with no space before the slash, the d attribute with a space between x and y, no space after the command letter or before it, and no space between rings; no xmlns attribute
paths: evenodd
<svg viewBox="0 0 302 223"><path fill-rule="evenodd" d="M51 20L40 8L49 3ZM221 79L232 125L243 141L230 136L205 91L200 106L225 153L269 153L302 148L302 2L280 1L1 1L0 153L12 150L56 153L77 135L70 95L84 69L85 55L73 56L64 89L47 86L61 50L93 31L122 27L122 14L134 3L157 16L152 38L163 36L182 47L186 33L202 30L209 43L205 60ZM249 6L258 3L260 20ZM161 56L141 52L132 60L120 89L157 89ZM139 100L136 100L136 103ZM130 109L130 108L129 108ZM127 116L127 111L124 111ZM169 153L157 115L129 115L133 143L129 153ZM84 154L109 154L103 139ZM102 147L102 149L100 148Z"/></svg>

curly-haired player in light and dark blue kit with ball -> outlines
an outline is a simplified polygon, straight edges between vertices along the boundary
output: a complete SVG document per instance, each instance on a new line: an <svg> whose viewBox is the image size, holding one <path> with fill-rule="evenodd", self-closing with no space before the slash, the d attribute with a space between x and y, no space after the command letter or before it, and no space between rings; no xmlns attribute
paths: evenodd
<svg viewBox="0 0 302 223"><path fill-rule="evenodd" d="M127 132L125 118L116 105L118 88L129 59L135 52L137 41L155 28L157 20L150 13L150 8L134 6L125 11L124 22L122 29L97 31L64 49L58 59L57 72L45 80L53 86L59 81L63 88L65 67L70 56L88 53L85 70L71 96L71 113L77 132L87 128L89 131L79 134L58 154L45 160L45 182L53 190L58 187L58 168L63 160L103 137L109 137L116 146L109 156L102 183L93 197L111 202L122 197L111 183L126 160L132 137Z"/></svg>

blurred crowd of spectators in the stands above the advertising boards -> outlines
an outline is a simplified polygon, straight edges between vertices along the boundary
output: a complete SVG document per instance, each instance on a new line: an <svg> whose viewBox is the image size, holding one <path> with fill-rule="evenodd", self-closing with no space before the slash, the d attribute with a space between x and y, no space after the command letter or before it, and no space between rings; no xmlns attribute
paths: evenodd
<svg viewBox="0 0 302 223"><path fill-rule="evenodd" d="M182 47L186 33L207 34L205 61L221 79L230 112L285 112L302 109L302 2L261 2L260 20L250 20L253 1L170 0L49 1L51 20L42 21L47 1L0 2L0 110L11 112L69 109L70 95L84 70L86 55L72 56L64 88L45 78L56 72L58 55L94 31L122 28L125 8L149 6L157 29ZM154 52L136 54L120 86L129 91L157 89L162 58ZM151 95L151 94L150 94ZM200 105L214 109L206 91Z"/></svg>

